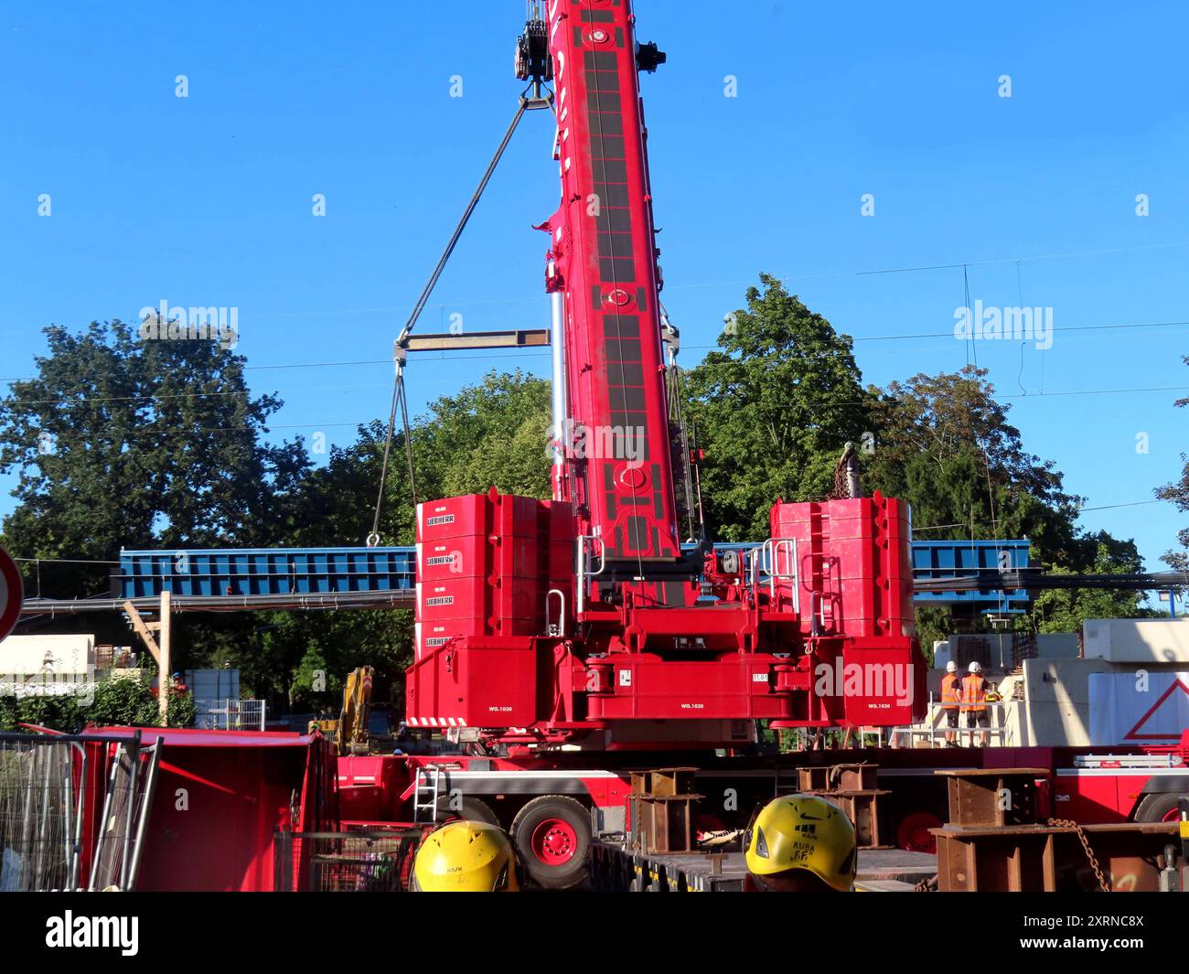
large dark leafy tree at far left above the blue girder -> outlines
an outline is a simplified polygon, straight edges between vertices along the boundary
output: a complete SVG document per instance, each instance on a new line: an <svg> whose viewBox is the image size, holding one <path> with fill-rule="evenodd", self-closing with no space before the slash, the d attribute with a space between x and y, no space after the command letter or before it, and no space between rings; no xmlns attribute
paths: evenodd
<svg viewBox="0 0 1189 974"><path fill-rule="evenodd" d="M19 473L2 542L46 559L31 591L106 589L107 567L80 563L121 547L277 541L308 459L300 441L263 441L281 401L252 397L241 356L118 320L45 335L37 376L0 400L0 471Z"/></svg>

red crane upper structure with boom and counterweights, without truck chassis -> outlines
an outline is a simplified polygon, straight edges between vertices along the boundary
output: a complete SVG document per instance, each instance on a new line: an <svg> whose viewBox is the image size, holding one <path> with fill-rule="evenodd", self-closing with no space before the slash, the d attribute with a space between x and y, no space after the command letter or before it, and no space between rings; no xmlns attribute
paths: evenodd
<svg viewBox="0 0 1189 974"><path fill-rule="evenodd" d="M755 721L911 723L925 706L907 505L772 508L755 552L682 551L630 0L530 5L517 73L555 83L553 499L417 509L408 722L503 742L730 746Z"/></svg>

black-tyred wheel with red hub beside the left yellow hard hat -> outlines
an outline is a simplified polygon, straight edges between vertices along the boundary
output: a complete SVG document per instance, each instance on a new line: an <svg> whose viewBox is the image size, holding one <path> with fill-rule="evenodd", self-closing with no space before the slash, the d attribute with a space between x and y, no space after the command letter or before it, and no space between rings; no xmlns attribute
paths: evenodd
<svg viewBox="0 0 1189 974"><path fill-rule="evenodd" d="M539 886L568 890L586 878L590 812L573 798L534 798L512 819L511 837L524 872Z"/></svg>

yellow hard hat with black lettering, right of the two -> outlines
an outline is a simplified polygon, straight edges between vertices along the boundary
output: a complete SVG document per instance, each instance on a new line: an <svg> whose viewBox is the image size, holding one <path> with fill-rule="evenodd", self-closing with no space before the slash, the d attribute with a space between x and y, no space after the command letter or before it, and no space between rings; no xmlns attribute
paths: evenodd
<svg viewBox="0 0 1189 974"><path fill-rule="evenodd" d="M820 796L786 794L769 802L749 827L746 848L748 872L761 888L813 890L825 884L844 893L855 885L855 827Z"/></svg>

